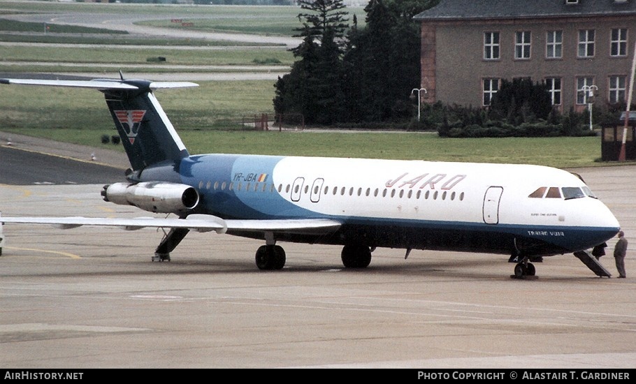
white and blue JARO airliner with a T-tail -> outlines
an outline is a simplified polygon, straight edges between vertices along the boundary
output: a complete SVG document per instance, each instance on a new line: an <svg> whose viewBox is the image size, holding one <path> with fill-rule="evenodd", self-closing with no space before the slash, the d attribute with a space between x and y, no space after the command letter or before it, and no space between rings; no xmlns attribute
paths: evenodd
<svg viewBox="0 0 636 384"><path fill-rule="evenodd" d="M264 242L259 269L282 269L280 243L342 246L342 264L364 268L378 247L509 256L519 278L533 262L575 255L619 231L612 212L570 172L538 165L438 161L191 155L154 91L191 82L124 79L0 79L0 84L101 91L131 167L127 182L106 185L106 202L173 216L151 218L1 217L3 223L58 228L164 228L152 260L189 231ZM577 256L578 257L578 256Z"/></svg>

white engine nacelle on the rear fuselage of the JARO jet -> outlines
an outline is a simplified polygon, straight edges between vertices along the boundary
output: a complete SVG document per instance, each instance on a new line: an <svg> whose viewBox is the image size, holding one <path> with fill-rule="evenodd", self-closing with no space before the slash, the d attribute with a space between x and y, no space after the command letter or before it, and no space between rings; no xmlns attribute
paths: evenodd
<svg viewBox="0 0 636 384"><path fill-rule="evenodd" d="M161 214L187 212L198 204L196 189L167 182L115 183L104 186L101 195L104 201Z"/></svg>

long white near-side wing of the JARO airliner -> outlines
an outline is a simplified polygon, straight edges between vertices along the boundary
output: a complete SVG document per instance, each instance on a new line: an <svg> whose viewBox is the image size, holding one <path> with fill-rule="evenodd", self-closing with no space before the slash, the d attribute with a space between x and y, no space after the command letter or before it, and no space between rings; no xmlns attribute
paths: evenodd
<svg viewBox="0 0 636 384"><path fill-rule="evenodd" d="M3 217L0 223L50 224L69 229L80 226L106 226L124 230L141 228L186 228L196 232L292 232L323 234L340 228L340 222L330 219L292 220L224 220L208 214L191 214L186 219L138 217L115 219L103 217Z"/></svg>

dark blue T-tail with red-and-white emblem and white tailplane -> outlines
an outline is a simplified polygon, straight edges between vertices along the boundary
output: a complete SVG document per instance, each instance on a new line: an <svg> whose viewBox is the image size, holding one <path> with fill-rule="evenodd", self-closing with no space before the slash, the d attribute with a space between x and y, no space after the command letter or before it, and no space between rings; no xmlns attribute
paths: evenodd
<svg viewBox="0 0 636 384"><path fill-rule="evenodd" d="M0 84L48 85L98 89L106 96L110 115L122 138L133 170L189 156L185 145L166 116L154 89L197 87L192 82L147 80L33 80L0 79Z"/></svg>

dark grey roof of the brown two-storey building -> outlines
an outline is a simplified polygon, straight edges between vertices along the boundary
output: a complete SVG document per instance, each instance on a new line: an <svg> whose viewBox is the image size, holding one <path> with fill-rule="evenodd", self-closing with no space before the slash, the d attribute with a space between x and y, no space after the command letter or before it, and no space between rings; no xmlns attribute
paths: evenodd
<svg viewBox="0 0 636 384"><path fill-rule="evenodd" d="M442 0L414 16L420 21L636 16L636 0Z"/></svg>

